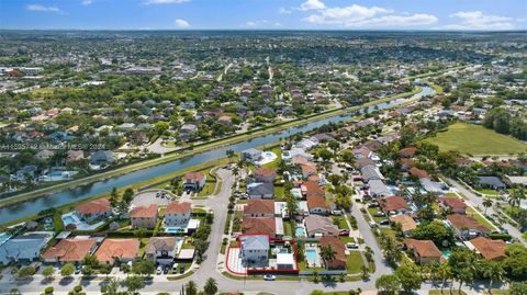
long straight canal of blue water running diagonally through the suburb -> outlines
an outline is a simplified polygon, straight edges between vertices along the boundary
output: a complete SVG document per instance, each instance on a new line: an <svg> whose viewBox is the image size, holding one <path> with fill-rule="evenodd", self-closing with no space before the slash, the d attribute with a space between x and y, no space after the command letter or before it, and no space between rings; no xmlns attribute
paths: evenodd
<svg viewBox="0 0 527 295"><path fill-rule="evenodd" d="M396 106L408 100L418 99L418 98L430 95L434 93L435 93L435 90L433 88L423 87L422 92L414 94L411 98L399 99L399 100L393 100L391 102L380 103L380 104L377 104L377 107L370 106L368 109L368 112L373 112L375 110L383 110L383 109ZM93 183L89 183L87 185L78 186L72 190L49 194L47 196L43 196L33 201L27 201L13 206L3 207L3 208L0 208L0 224L9 223L11 220L22 218L26 215L36 214L46 208L57 207L68 203L77 202L79 200L89 198L91 196L94 196L104 192L109 192L112 190L112 188L126 186L136 182L142 182L148 179L168 174L173 171L181 170L191 166L220 159L225 157L225 152L228 149L239 152L248 148L270 145L272 143L280 140L281 138L285 138L302 132L309 132L330 122L337 123L337 122L348 121L351 117L352 117L351 114L347 114L347 115L337 115L337 116L324 118L321 121L307 123L302 126L291 127L289 129L278 132L276 134L253 138L251 140L248 140L248 141L243 141L238 144L224 146L221 148L215 148L215 149L204 151L202 154L198 154L188 158L175 160L172 162L137 170L134 172L130 172L127 174L113 177L106 180L101 180Z"/></svg>

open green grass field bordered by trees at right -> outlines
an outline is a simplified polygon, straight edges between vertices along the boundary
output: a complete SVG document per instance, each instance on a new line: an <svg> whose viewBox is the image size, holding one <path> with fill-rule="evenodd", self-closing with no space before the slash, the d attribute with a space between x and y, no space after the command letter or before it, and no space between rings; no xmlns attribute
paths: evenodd
<svg viewBox="0 0 527 295"><path fill-rule="evenodd" d="M440 150L458 150L471 155L509 155L527 150L527 144L483 126L456 123L447 132L425 139Z"/></svg>

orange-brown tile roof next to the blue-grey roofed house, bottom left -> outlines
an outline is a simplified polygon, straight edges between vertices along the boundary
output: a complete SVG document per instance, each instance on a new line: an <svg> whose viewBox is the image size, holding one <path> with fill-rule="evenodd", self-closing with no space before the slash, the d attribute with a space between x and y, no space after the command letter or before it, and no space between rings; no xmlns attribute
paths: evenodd
<svg viewBox="0 0 527 295"><path fill-rule="evenodd" d="M63 262L79 262L89 254L96 242L96 239L64 239L49 247L42 257Z"/></svg>

